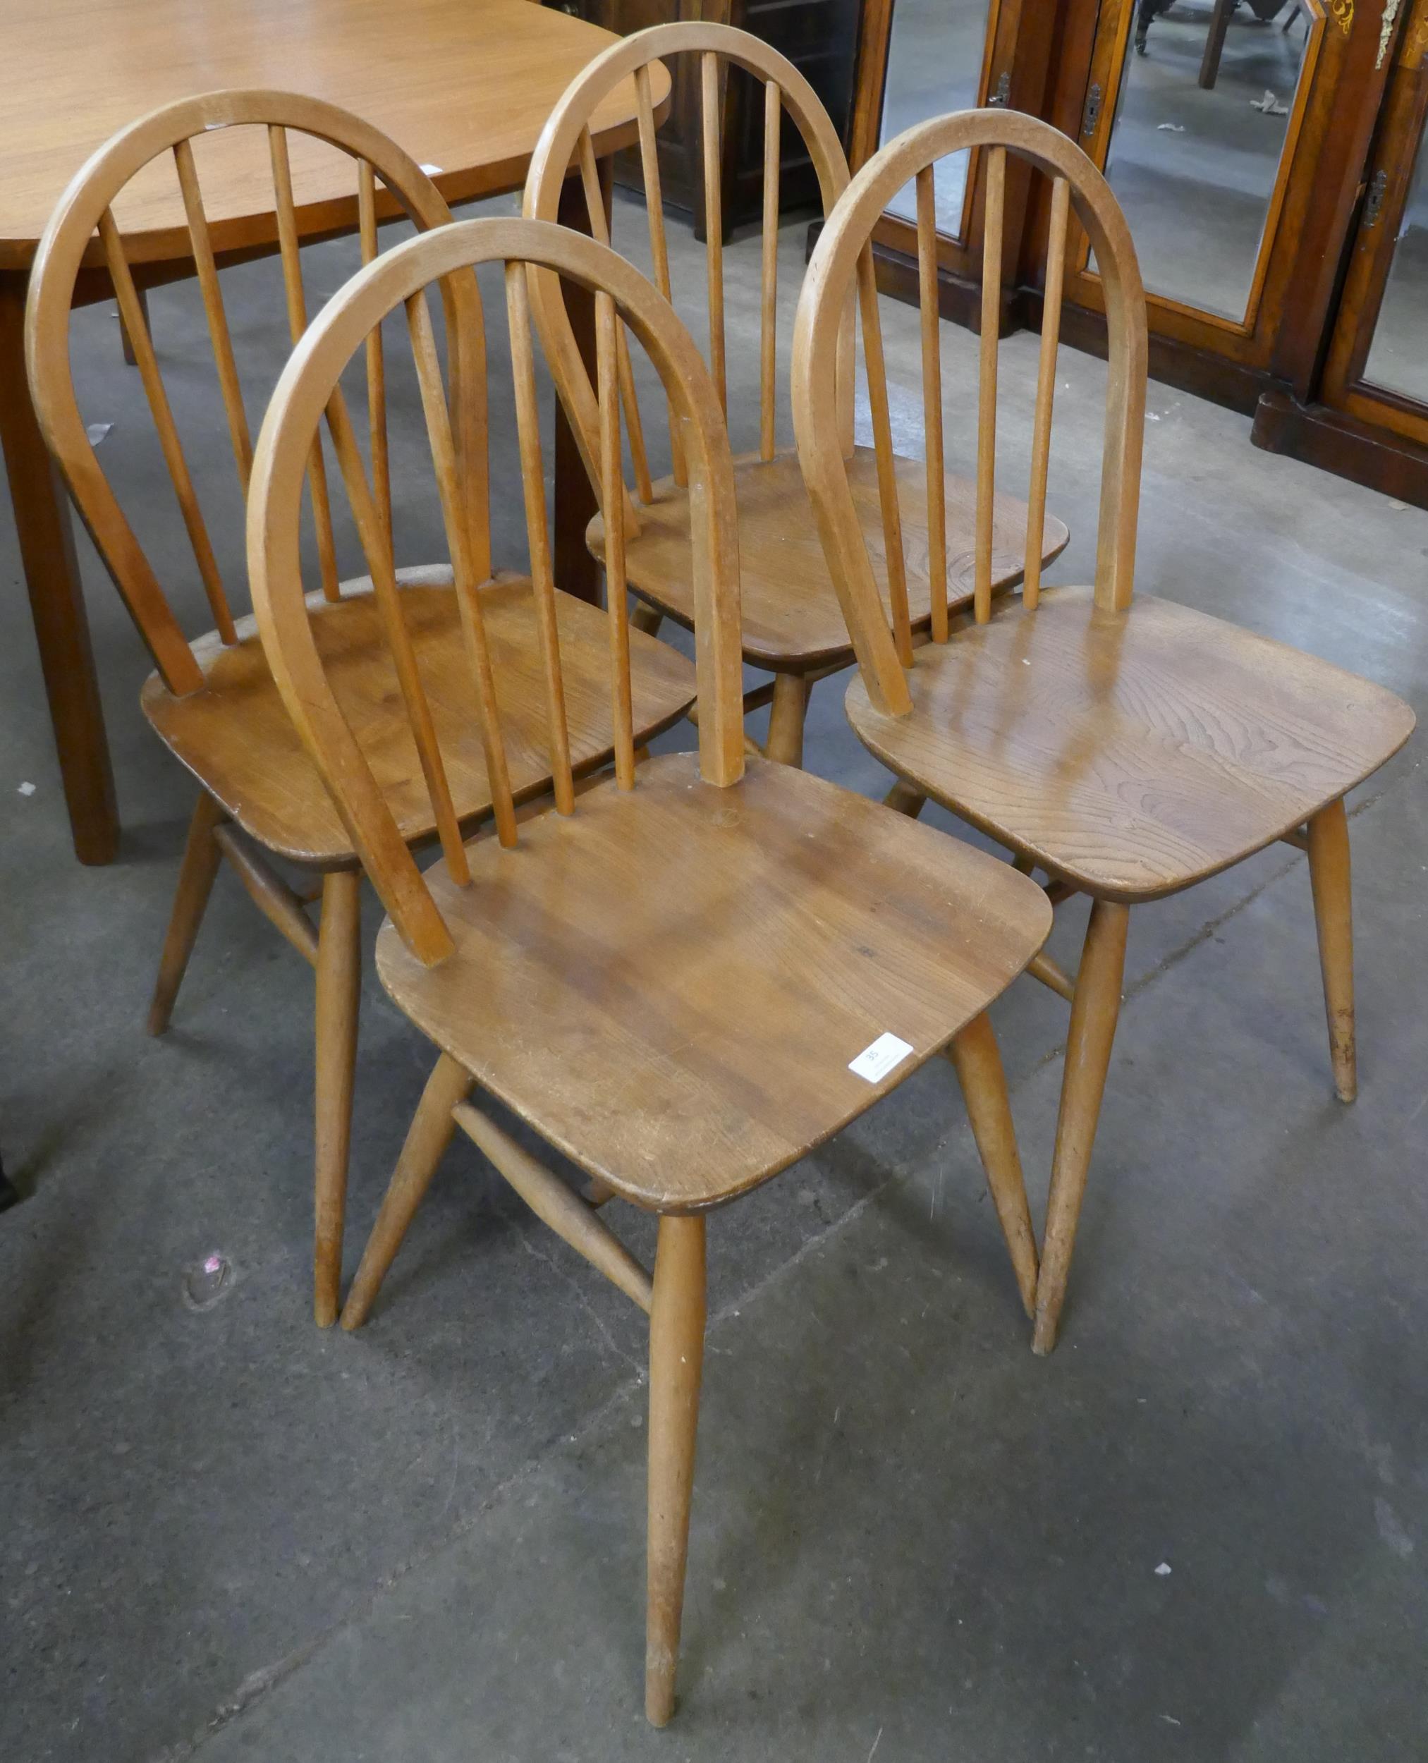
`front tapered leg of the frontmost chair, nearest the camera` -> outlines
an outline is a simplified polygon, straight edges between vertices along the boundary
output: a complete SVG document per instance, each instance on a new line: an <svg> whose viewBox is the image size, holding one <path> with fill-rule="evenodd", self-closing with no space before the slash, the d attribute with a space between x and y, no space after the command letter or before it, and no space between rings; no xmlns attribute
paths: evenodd
<svg viewBox="0 0 1428 1763"><path fill-rule="evenodd" d="M649 1313L649 1541L645 1715L663 1726L675 1707L679 1620L689 1550L689 1491L703 1370L703 1218L661 1216Z"/></svg>

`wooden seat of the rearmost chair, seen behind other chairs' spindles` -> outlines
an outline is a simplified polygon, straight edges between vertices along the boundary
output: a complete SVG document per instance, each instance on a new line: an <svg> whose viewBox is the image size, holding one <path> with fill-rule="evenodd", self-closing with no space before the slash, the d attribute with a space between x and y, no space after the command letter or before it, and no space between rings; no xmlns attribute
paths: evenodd
<svg viewBox="0 0 1428 1763"><path fill-rule="evenodd" d="M867 555L887 606L887 547L878 504L878 460L873 448L855 448L848 464ZM837 592L823 561L795 451L772 460L742 455L733 462L739 502L739 573L744 624L744 659L755 666L804 673L809 668L852 661L853 647ZM927 589L927 469L920 460L897 458L897 504L903 517L903 555L913 629L931 619ZM971 605L973 517L977 485L947 476L947 592L956 610ZM629 585L693 628L689 580L689 497L673 478L654 485L654 501L638 508L640 534L626 548ZM1042 555L1058 557L1070 534L1051 515L1042 527ZM587 529L596 557L605 557L599 515ZM1012 587L1026 561L1026 504L998 495L993 511L993 585Z"/></svg>

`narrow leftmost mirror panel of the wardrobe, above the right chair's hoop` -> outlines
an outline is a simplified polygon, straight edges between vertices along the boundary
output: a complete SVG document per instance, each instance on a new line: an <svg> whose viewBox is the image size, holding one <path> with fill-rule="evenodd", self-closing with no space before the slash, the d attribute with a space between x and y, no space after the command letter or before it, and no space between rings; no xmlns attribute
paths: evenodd
<svg viewBox="0 0 1428 1763"><path fill-rule="evenodd" d="M880 146L915 122L975 108L991 21L993 0L896 0ZM968 155L952 153L933 171L938 233L948 238L963 236L966 167ZM917 220L911 183L892 197L887 212L903 220Z"/></svg>

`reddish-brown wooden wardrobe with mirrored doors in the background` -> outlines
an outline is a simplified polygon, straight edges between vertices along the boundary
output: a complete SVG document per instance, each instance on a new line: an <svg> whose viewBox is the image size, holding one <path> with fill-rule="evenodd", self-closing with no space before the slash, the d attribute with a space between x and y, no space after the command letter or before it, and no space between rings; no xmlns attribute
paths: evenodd
<svg viewBox="0 0 1428 1763"><path fill-rule="evenodd" d="M889 48L897 9L913 4L867 0L853 166L885 138ZM1305 0L1269 21L1257 16L1266 5L1225 9L1211 90L1199 78L1206 7L989 0L980 60L968 48L959 56L982 104L1054 123L1105 171L1142 259L1153 377L1252 416L1259 446L1428 506L1428 391L1387 381L1375 349L1395 261L1405 275L1395 247L1423 157L1428 0ZM1285 18L1303 23L1283 30ZM1253 109L1266 88L1275 102ZM1248 189L1231 164L1250 167ZM1044 178L1019 180L1008 164L1003 333L1040 324L1047 199ZM1227 231L1216 238L1215 227ZM880 284L917 298L910 219L887 215L876 245ZM943 316L973 328L980 256L980 197L970 194L961 224L940 231L938 259ZM1065 293L1065 340L1104 353L1084 236L1072 240Z"/></svg>

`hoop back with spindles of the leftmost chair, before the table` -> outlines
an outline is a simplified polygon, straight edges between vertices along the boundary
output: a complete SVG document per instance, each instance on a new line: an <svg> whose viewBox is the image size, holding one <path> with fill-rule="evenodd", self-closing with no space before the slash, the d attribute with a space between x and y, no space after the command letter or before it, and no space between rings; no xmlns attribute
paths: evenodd
<svg viewBox="0 0 1428 1763"><path fill-rule="evenodd" d="M210 226L203 208L203 192L190 143L208 130L242 125L268 130L275 201L271 215L259 222L259 227L266 227L266 236L263 231L257 231L256 236L252 217L245 217L242 222L215 220ZM30 277L25 354L30 391L41 428L51 453L58 460L76 508L134 622L139 626L139 633L153 656L164 684L176 695L196 691L203 684L203 673L167 603L153 566L120 508L104 467L99 464L88 439L71 372L71 309L81 272L108 268L215 628L224 642L233 642L234 626L227 594L183 457L173 411L164 391L162 372L130 272L129 252L115 220L113 205L138 173L160 155L173 155L183 196L189 249L197 270L219 370L229 439L233 443L240 485L247 494L252 444L249 441L233 342L219 289L217 257L238 245L247 249L256 242L268 243L277 240L282 254L289 335L291 340L301 335L307 323L307 307L298 263L298 210L293 197L287 130L314 136L358 162L358 187L354 190L354 205L351 206L356 208L361 231L363 261L370 261L377 250L377 180L395 197L395 208L386 205L390 212L405 212L420 227L435 227L450 222L451 212L446 201L416 160L379 129L374 129L351 111L291 92L206 92L166 104L148 116L141 116L90 155L71 180L49 226L44 229ZM326 206L331 208L331 222L335 226L349 224L349 205ZM95 233L99 234L97 242ZM139 250L143 250L143 245ZM166 250L166 256L171 254ZM458 305L465 300L465 316L471 321L472 303L469 296L457 293L451 298ZM474 323L480 324L480 309L474 309ZM467 342L471 347L476 347L480 335L471 335ZM368 351L368 400L383 409L381 476L384 480L386 428L381 340ZM310 460L310 478L317 541L323 554L324 591L328 598L335 598L335 552L321 444ZM383 483L383 492L386 494L386 483Z"/></svg>

